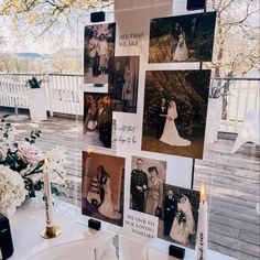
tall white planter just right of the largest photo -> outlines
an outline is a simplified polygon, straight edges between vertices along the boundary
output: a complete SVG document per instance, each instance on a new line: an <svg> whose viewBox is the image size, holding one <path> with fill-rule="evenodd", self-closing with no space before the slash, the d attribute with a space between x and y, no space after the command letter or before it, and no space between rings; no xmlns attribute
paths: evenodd
<svg viewBox="0 0 260 260"><path fill-rule="evenodd" d="M206 143L214 143L217 141L218 130L221 120L221 98L209 98L207 107L206 121Z"/></svg>

